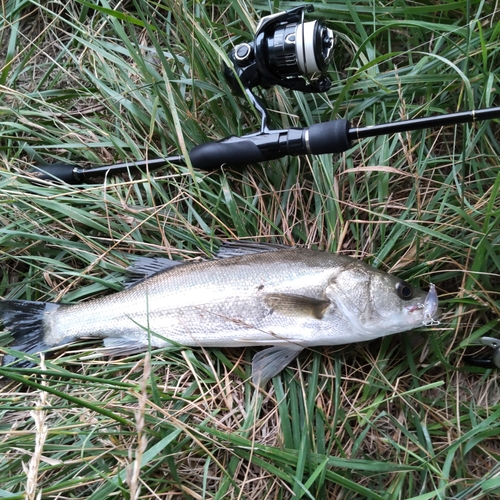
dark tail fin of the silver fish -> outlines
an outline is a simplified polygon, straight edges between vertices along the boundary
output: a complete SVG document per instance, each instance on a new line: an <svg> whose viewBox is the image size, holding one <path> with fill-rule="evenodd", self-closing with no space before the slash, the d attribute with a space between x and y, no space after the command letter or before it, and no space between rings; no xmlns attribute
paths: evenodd
<svg viewBox="0 0 500 500"><path fill-rule="evenodd" d="M27 300L0 301L0 323L3 328L14 337L10 349L26 354L34 354L49 349L51 346L44 342L45 313L59 307L51 302L32 302ZM15 361L17 356L6 354L3 364ZM29 365L29 362L20 362L18 366Z"/></svg>

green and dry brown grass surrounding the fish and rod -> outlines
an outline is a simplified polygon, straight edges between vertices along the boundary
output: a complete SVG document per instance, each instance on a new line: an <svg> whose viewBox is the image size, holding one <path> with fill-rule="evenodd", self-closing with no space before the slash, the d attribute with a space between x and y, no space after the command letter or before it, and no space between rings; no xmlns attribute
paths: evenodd
<svg viewBox="0 0 500 500"><path fill-rule="evenodd" d="M250 238L435 283L446 313L432 329L309 350L259 400L250 348L107 360L82 342L1 368L0 498L496 498L500 379L462 357L498 336L498 122L338 157L34 185L32 164L157 158L255 131L221 60L269 8L297 5L64 3L2 3L2 298L76 302L119 289L133 255L206 256ZM334 84L265 92L273 127L499 106L495 5L315 3L339 33Z"/></svg>

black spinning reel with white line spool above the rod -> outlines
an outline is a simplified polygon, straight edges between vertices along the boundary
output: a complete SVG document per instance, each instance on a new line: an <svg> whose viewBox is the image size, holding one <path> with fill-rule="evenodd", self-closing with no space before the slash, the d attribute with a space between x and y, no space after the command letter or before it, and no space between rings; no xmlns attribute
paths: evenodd
<svg viewBox="0 0 500 500"><path fill-rule="evenodd" d="M305 22L312 5L263 17L253 42L241 43L228 54L233 68L224 68L233 89L281 85L300 92L325 92L332 82L325 75L333 57L335 36L320 19ZM237 77L238 78L237 78Z"/></svg>

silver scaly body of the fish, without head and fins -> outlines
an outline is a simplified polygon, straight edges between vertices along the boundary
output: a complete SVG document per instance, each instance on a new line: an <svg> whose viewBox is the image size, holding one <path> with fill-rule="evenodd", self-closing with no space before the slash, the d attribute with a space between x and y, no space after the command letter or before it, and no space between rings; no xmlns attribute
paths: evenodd
<svg viewBox="0 0 500 500"><path fill-rule="evenodd" d="M349 257L301 249L188 263L122 292L60 306L45 319L45 341L108 337L148 344L151 336L157 347L169 340L207 347L341 343L349 324L340 311L328 321L288 316L274 312L264 298L324 299L329 280L348 266L367 267ZM338 342L332 342L335 335Z"/></svg>

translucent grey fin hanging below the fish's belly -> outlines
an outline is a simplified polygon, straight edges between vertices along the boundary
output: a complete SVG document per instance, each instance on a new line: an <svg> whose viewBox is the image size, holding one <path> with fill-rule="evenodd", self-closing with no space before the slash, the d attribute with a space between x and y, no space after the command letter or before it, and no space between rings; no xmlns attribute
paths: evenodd
<svg viewBox="0 0 500 500"><path fill-rule="evenodd" d="M302 351L296 344L274 346L258 352L252 360L252 382L263 387L269 380L289 365Z"/></svg>

